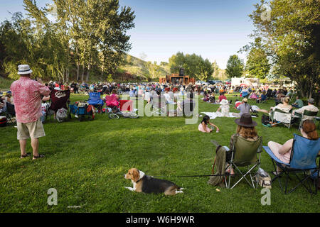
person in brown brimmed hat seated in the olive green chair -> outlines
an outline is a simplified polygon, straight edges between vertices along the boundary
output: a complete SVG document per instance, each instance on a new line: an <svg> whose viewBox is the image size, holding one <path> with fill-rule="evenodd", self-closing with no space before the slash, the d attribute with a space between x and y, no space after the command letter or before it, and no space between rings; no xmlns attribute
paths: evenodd
<svg viewBox="0 0 320 227"><path fill-rule="evenodd" d="M242 114L240 119L235 119L235 123L238 125L237 131L235 134L231 135L229 148L225 146L225 149L227 150L226 162L231 160L231 149L233 149L233 140L235 138L235 135L238 135L239 137L250 141L256 141L259 138L255 129L255 126L257 126L257 122L252 121L252 117L250 114ZM229 169L228 172L230 172L231 175L234 174L233 169L231 169L231 171Z"/></svg>

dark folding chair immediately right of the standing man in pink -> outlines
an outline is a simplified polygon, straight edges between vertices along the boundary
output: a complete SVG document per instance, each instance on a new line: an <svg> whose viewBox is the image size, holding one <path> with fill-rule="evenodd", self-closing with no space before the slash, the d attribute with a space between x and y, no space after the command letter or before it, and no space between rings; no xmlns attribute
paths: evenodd
<svg viewBox="0 0 320 227"><path fill-rule="evenodd" d="M61 108L64 108L68 111L68 116L70 116L70 110L68 108L70 103L70 90L57 90L53 89L50 94L50 106L48 107L48 110L46 110L46 118L50 114L50 111L53 111L54 113L57 113L57 111Z"/></svg>

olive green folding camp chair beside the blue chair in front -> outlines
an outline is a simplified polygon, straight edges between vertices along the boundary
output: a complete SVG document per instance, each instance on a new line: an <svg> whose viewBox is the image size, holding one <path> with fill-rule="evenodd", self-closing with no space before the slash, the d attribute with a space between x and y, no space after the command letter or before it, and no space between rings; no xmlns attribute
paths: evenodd
<svg viewBox="0 0 320 227"><path fill-rule="evenodd" d="M231 181L231 174L228 176L225 176L225 187L228 189L233 189L242 179L245 179L245 181L254 189L257 188L257 180L255 179L255 176L252 177L252 170L257 167L257 170L260 168L260 156L262 152L262 137L259 137L255 141L246 140L245 138L242 138L238 135L235 135L235 138L233 140L233 149L231 154L231 160L228 161L228 168L233 168L236 170L236 172L239 172L241 175L241 178L233 184L232 187L230 187L230 181ZM257 157L257 154L259 154L259 157ZM246 172L241 172L239 167L247 167ZM230 171L231 172L231 171ZM250 181L247 179L247 175L250 175ZM227 183L227 177L228 183ZM255 183L256 182L256 183Z"/></svg>

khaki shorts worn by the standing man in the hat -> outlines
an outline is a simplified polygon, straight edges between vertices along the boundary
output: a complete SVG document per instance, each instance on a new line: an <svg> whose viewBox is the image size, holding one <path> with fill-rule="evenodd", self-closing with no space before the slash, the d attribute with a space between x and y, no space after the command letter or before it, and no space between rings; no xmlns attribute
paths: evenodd
<svg viewBox="0 0 320 227"><path fill-rule="evenodd" d="M29 123L17 122L16 125L18 128L18 140L27 140L28 138L40 138L46 136L40 118L38 118L38 121L33 121Z"/></svg>

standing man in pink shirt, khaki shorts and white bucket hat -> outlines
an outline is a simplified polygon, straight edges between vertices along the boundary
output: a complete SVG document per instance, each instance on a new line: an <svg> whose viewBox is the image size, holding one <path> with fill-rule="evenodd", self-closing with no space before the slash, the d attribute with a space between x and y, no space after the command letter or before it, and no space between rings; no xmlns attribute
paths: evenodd
<svg viewBox="0 0 320 227"><path fill-rule="evenodd" d="M11 84L11 92L14 96L14 109L16 111L17 138L20 143L21 156L27 157L26 140L31 138L33 149L33 160L44 157L39 155L38 138L46 136L41 123L41 96L48 96L50 89L45 85L31 79L29 65L18 65L18 74L20 79Z"/></svg>

